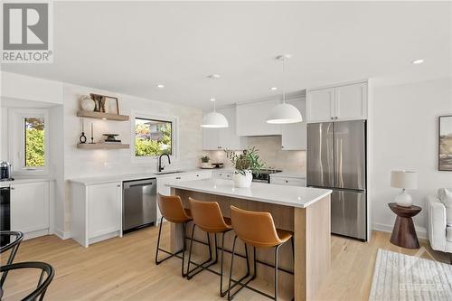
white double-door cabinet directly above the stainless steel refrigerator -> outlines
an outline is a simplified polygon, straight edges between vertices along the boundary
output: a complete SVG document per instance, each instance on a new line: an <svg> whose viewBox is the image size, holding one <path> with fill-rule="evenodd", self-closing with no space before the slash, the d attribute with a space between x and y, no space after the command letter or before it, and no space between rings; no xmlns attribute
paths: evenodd
<svg viewBox="0 0 452 301"><path fill-rule="evenodd" d="M367 119L367 82L307 91L307 123Z"/></svg>

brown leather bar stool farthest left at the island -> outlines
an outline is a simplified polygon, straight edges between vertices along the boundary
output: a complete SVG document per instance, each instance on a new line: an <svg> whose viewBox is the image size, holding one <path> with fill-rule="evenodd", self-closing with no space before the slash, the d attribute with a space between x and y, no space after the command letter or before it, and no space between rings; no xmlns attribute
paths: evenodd
<svg viewBox="0 0 452 301"><path fill-rule="evenodd" d="M162 218L160 219L160 227L158 229L158 239L157 239L157 248L155 250L155 264L159 265L164 262L166 259L171 259L174 256L177 256L182 252L182 277L186 277L187 274L184 273L184 262L185 262L185 249L186 244L185 240L187 237L185 236L186 225L189 221L193 221L190 210L184 209L181 198L177 195L163 195L157 194L157 202L158 208L162 213ZM170 252L165 249L160 249L160 236L162 234L162 223L164 221L174 222L175 224L181 224L184 231L184 247L183 249L177 252ZM169 256L165 257L165 259L158 260L158 251L162 251Z"/></svg>

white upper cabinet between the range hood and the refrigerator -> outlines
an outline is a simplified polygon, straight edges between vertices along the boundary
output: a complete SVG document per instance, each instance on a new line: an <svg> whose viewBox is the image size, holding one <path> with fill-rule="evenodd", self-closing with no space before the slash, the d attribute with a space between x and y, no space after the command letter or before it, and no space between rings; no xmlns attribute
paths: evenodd
<svg viewBox="0 0 452 301"><path fill-rule="evenodd" d="M306 99L290 99L286 102L298 108L303 122L281 125L281 148L283 150L306 150Z"/></svg>

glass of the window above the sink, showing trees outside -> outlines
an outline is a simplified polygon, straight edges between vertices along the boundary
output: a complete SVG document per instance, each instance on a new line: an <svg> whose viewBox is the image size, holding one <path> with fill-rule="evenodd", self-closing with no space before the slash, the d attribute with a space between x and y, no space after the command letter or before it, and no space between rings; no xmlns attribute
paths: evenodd
<svg viewBox="0 0 452 301"><path fill-rule="evenodd" d="M174 155L174 122L155 118L135 118L135 155Z"/></svg>

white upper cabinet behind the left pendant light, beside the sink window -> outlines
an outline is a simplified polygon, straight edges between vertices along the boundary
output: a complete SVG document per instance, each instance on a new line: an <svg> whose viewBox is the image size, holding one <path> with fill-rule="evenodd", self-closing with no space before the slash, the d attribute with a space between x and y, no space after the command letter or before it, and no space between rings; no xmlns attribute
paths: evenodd
<svg viewBox="0 0 452 301"><path fill-rule="evenodd" d="M236 134L235 107L219 108L217 112L228 119L229 127L202 128L202 148L204 150L240 150L246 148L246 137L240 137Z"/></svg>

